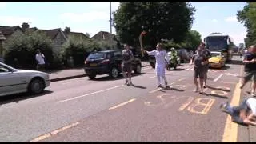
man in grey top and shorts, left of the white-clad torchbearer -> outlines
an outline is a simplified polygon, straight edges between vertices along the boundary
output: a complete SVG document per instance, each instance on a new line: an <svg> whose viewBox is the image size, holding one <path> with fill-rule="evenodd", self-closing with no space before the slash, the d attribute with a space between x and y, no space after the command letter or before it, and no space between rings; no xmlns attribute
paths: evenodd
<svg viewBox="0 0 256 144"><path fill-rule="evenodd" d="M132 86L131 82L131 71L132 71L132 60L134 58L133 52L130 50L130 46L128 44L124 44L124 50L122 50L122 75L126 79L126 85ZM126 76L128 75L128 78ZM129 80L129 81L128 81Z"/></svg>

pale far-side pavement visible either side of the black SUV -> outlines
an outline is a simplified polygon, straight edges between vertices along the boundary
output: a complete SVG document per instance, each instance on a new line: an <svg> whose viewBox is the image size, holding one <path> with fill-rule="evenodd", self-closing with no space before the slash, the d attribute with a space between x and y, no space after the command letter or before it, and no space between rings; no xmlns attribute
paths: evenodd
<svg viewBox="0 0 256 144"><path fill-rule="evenodd" d="M149 62L142 62L142 67L150 66ZM58 70L48 72L50 74L50 82L57 82L66 79L72 78L82 78L86 77L85 71L83 68L73 68L73 69L66 69L66 70Z"/></svg>

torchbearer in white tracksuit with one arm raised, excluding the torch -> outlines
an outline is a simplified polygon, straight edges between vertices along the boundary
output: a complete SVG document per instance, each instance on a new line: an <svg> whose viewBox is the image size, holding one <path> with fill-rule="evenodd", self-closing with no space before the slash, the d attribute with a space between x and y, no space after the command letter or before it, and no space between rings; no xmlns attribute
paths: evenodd
<svg viewBox="0 0 256 144"><path fill-rule="evenodd" d="M156 64L155 64L155 72L158 78L158 88L161 88L161 78L162 80L165 82L166 88L169 88L170 86L168 86L168 82L166 80L166 63L169 64L169 56L166 52L166 50L164 50L162 48L162 43L158 42L157 46L156 46L156 50L152 50L152 51L146 51L144 49L142 49L144 52L146 52L149 55L154 55L155 60L156 60Z"/></svg>

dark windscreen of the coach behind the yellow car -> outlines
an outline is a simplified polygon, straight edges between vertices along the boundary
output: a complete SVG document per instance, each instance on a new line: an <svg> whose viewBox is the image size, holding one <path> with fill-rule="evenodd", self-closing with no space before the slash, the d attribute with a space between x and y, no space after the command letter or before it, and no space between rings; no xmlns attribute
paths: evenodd
<svg viewBox="0 0 256 144"><path fill-rule="evenodd" d="M222 51L227 49L227 40L224 37L206 38L206 46L210 51Z"/></svg>

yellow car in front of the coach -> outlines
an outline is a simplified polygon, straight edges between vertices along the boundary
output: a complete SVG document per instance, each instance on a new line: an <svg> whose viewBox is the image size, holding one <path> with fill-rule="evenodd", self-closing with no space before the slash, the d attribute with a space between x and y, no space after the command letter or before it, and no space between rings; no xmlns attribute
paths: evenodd
<svg viewBox="0 0 256 144"><path fill-rule="evenodd" d="M222 66L225 66L226 58L222 54L222 52L211 51L210 54L211 54L211 58L209 59L210 67L222 68Z"/></svg>

